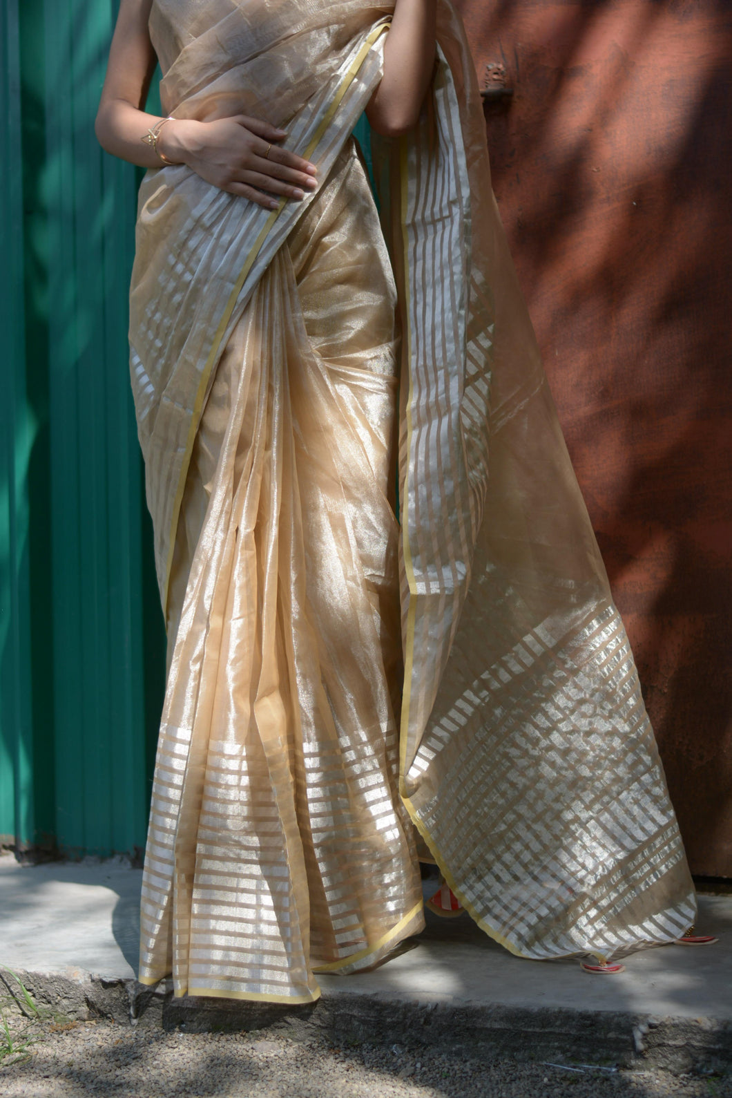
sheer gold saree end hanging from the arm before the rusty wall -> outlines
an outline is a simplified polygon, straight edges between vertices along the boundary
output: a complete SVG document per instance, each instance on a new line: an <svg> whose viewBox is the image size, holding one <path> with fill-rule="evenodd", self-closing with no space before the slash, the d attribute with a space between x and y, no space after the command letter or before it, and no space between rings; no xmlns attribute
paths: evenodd
<svg viewBox="0 0 732 1098"><path fill-rule="evenodd" d="M401 791L492 937L610 957L683 933L694 887L449 4L439 38L432 110L374 157L407 316Z"/></svg>

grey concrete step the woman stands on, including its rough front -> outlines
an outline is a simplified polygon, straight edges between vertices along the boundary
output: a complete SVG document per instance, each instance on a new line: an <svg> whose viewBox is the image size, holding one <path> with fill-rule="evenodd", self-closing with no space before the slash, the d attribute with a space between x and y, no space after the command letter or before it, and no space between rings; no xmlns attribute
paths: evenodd
<svg viewBox="0 0 732 1098"><path fill-rule="evenodd" d="M426 931L382 967L320 977L319 1002L288 1008L173 999L169 987L137 984L140 879L123 860L25 866L0 858L0 965L72 1018L191 1032L272 1029L295 1039L316 1029L345 1043L368 1037L541 1061L732 1067L732 896L700 897L699 926L720 934L718 945L644 950L609 977L583 973L573 959L515 957L466 916L428 915Z"/></svg>

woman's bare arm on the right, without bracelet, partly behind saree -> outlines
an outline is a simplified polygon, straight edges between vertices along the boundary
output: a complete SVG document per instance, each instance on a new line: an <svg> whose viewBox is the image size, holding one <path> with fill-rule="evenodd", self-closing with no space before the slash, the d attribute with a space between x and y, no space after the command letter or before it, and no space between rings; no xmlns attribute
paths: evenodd
<svg viewBox="0 0 732 1098"><path fill-rule="evenodd" d="M384 76L367 108L376 133L398 137L419 117L435 69L437 0L396 0Z"/></svg>

